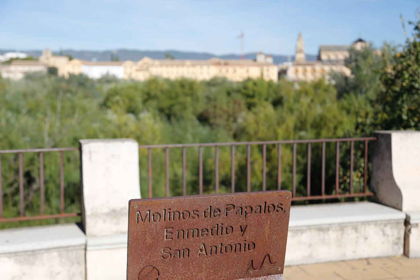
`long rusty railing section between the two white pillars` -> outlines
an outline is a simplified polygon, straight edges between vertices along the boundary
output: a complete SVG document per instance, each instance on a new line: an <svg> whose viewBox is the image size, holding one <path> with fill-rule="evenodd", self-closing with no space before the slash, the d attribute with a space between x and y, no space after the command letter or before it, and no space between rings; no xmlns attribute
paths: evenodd
<svg viewBox="0 0 420 280"><path fill-rule="evenodd" d="M260 145L262 146L262 186L260 190L265 191L267 186L267 145L276 145L277 149L277 189L281 189L282 182L282 145L291 144L293 147L292 152L292 200L317 200L317 199L337 199L337 198L346 198L346 197L358 197L358 196L373 196L374 194L367 190L367 166L368 166L368 141L376 140L375 137L362 137L362 138L341 138L341 139L310 139L310 140L285 140L285 141L254 141L254 142L228 142L228 143L197 143L197 144L163 144L163 145L139 145L139 149L147 149L147 181L148 181L148 196L152 197L152 149L163 149L165 152L165 196L169 196L169 150L172 148L181 148L182 149L182 195L187 195L186 192L186 148L189 147L198 147L198 157L199 157L199 168L198 168L198 182L199 190L198 194L203 194L203 147L214 147L214 178L215 186L214 192L219 193L219 147L230 146L231 147L231 192L235 192L235 147L237 146L246 146L247 160L246 160L246 190L251 191L251 146ZM353 189L353 172L354 172L354 142L364 142L364 155L363 155L363 191L354 192ZM335 194L326 194L325 193L325 144L329 142L336 143L336 157L335 157ZM322 156L321 156L321 189L319 194L311 194L311 153L312 153L312 144L320 143L322 145ZM339 193L339 166L340 166L340 144L349 143L350 144L350 175L349 175L349 190L348 193ZM307 145L307 167L306 167L306 195L297 196L296 188L296 170L297 170L297 145L306 144Z"/></svg>

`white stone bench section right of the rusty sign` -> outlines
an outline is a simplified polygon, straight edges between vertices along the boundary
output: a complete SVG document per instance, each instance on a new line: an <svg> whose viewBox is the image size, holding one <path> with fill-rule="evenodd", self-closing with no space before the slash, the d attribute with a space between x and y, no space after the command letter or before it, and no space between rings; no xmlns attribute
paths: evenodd
<svg viewBox="0 0 420 280"><path fill-rule="evenodd" d="M403 212L372 202L293 206L286 265L403 253Z"/></svg>

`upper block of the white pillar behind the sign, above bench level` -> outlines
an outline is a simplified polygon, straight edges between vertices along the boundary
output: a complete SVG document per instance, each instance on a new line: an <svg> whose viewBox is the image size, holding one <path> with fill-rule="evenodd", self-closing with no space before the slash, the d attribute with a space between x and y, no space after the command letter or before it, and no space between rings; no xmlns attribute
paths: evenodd
<svg viewBox="0 0 420 280"><path fill-rule="evenodd" d="M80 140L80 148L86 235L126 234L129 200L140 198L138 143L132 139Z"/></svg>

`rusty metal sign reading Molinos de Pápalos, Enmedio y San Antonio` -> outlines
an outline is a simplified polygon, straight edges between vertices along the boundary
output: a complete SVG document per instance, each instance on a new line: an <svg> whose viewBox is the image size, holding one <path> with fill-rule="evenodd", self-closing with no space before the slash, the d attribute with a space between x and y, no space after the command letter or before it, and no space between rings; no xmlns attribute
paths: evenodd
<svg viewBox="0 0 420 280"><path fill-rule="evenodd" d="M128 280L282 274L290 191L129 201Z"/></svg>

